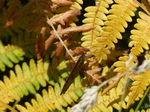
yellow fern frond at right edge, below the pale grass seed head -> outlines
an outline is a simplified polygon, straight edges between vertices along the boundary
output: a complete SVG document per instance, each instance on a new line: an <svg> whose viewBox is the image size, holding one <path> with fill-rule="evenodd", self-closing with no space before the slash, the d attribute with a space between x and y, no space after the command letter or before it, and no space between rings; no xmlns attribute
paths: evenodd
<svg viewBox="0 0 150 112"><path fill-rule="evenodd" d="M150 70L146 70L143 74L134 76L134 82L130 88L130 93L128 95L127 106L131 105L135 100L139 100L142 97L147 86L150 85Z"/></svg>

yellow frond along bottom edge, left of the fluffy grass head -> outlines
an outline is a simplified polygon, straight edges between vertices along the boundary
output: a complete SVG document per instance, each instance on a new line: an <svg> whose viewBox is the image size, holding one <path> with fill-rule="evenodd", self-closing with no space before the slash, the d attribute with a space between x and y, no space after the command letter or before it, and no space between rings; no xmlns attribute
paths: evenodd
<svg viewBox="0 0 150 112"><path fill-rule="evenodd" d="M80 80L79 77L76 80ZM81 84L80 81L75 81L75 85ZM36 94L36 100L32 99L31 104L26 102L26 108L17 105L17 109L19 111L23 112L47 112L48 110L60 110L62 111L64 107L67 107L68 105L72 105L74 102L78 100L78 98L82 95L83 91L81 92L80 88L76 88L75 85L72 85L70 87L70 90L68 90L65 94L60 95L61 87L58 83L54 85L54 88L51 86L48 87L48 92L44 89L42 91L42 96L40 94ZM75 90L75 92L73 91Z"/></svg>

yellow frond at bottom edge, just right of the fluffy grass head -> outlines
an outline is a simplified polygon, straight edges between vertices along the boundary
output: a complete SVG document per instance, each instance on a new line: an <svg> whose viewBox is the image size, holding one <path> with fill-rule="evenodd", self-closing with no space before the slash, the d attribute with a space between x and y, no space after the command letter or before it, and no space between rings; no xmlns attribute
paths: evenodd
<svg viewBox="0 0 150 112"><path fill-rule="evenodd" d="M124 78L122 78L117 87L111 89L107 94L98 94L97 103L93 106L89 112L113 112L113 108L119 110L121 107L126 108L125 101L121 101L121 95L123 94Z"/></svg>

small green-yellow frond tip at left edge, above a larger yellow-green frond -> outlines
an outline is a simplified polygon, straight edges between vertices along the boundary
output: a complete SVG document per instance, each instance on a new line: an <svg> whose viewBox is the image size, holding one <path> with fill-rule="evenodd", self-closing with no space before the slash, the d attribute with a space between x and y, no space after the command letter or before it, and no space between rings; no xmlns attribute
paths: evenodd
<svg viewBox="0 0 150 112"><path fill-rule="evenodd" d="M13 63L23 60L24 52L20 47L14 45L4 46L0 40L0 70L5 71L6 66L12 68Z"/></svg>

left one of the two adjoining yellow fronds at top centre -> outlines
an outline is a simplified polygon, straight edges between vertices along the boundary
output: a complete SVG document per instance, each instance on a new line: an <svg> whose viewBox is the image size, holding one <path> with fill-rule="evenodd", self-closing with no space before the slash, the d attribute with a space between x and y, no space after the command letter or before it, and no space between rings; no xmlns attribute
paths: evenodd
<svg viewBox="0 0 150 112"><path fill-rule="evenodd" d="M108 14L108 3L105 1L99 1L100 3L97 6L89 6L85 8L85 19L83 20L83 23L88 26L94 26L95 29L84 32L83 37L81 40L83 41L82 46L85 48L89 48L92 53L99 59L97 52L100 52L99 49L97 49L95 43L97 43L96 38L100 36L99 32L102 31L101 26L104 25L104 20L107 20L107 17L105 14ZM99 44L99 46L103 46L103 44ZM97 49L97 51L95 51ZM105 50L107 52L108 50Z"/></svg>

